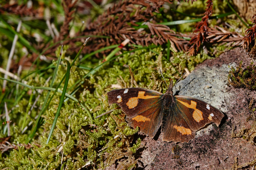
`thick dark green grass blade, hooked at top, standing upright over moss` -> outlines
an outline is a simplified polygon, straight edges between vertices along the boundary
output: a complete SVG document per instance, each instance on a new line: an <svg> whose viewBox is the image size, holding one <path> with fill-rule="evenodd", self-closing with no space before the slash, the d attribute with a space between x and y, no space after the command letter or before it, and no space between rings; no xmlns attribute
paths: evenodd
<svg viewBox="0 0 256 170"><path fill-rule="evenodd" d="M67 61L66 81L65 81L65 84L64 84L64 87L63 87L63 91L62 91L62 94L61 94L61 97L60 97L60 103L59 103L59 106L58 106L55 118L53 120L53 123L52 123L52 126L51 126L51 130L50 130L50 133L49 133L49 136L48 136L46 144L48 144L49 141L50 141L51 135L53 133L53 130L54 130L55 126L56 126L58 117L60 115L60 109L62 107L62 104L63 104L63 101L64 101L64 97L65 97L65 93L66 93L66 90L67 90L67 87L68 87L69 73L70 73L70 63Z"/></svg>

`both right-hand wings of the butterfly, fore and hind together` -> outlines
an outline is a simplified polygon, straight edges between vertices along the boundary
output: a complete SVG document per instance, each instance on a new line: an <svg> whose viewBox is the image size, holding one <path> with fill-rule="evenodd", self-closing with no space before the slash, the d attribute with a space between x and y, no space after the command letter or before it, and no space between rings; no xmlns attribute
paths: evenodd
<svg viewBox="0 0 256 170"><path fill-rule="evenodd" d="M163 141L188 142L195 131L210 122L219 126L223 113L208 103L187 96L174 96L172 108L163 109Z"/></svg>

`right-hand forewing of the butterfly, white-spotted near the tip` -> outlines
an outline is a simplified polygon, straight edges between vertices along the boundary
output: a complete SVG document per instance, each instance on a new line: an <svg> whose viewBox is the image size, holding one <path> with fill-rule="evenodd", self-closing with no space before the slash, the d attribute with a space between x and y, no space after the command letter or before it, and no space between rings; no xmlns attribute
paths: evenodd
<svg viewBox="0 0 256 170"><path fill-rule="evenodd" d="M196 131L210 122L219 126L224 114L217 108L208 103L187 96L174 96L177 103L177 109L188 126Z"/></svg>

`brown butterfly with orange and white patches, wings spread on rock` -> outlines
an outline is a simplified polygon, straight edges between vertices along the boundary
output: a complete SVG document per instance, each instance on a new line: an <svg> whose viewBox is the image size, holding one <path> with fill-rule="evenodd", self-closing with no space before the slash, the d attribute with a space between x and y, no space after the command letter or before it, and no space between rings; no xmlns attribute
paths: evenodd
<svg viewBox="0 0 256 170"><path fill-rule="evenodd" d="M145 88L109 91L109 105L117 103L129 126L154 137L162 125L163 141L189 142L210 122L219 126L223 113L210 104L187 96L173 96L173 81L165 94Z"/></svg>

